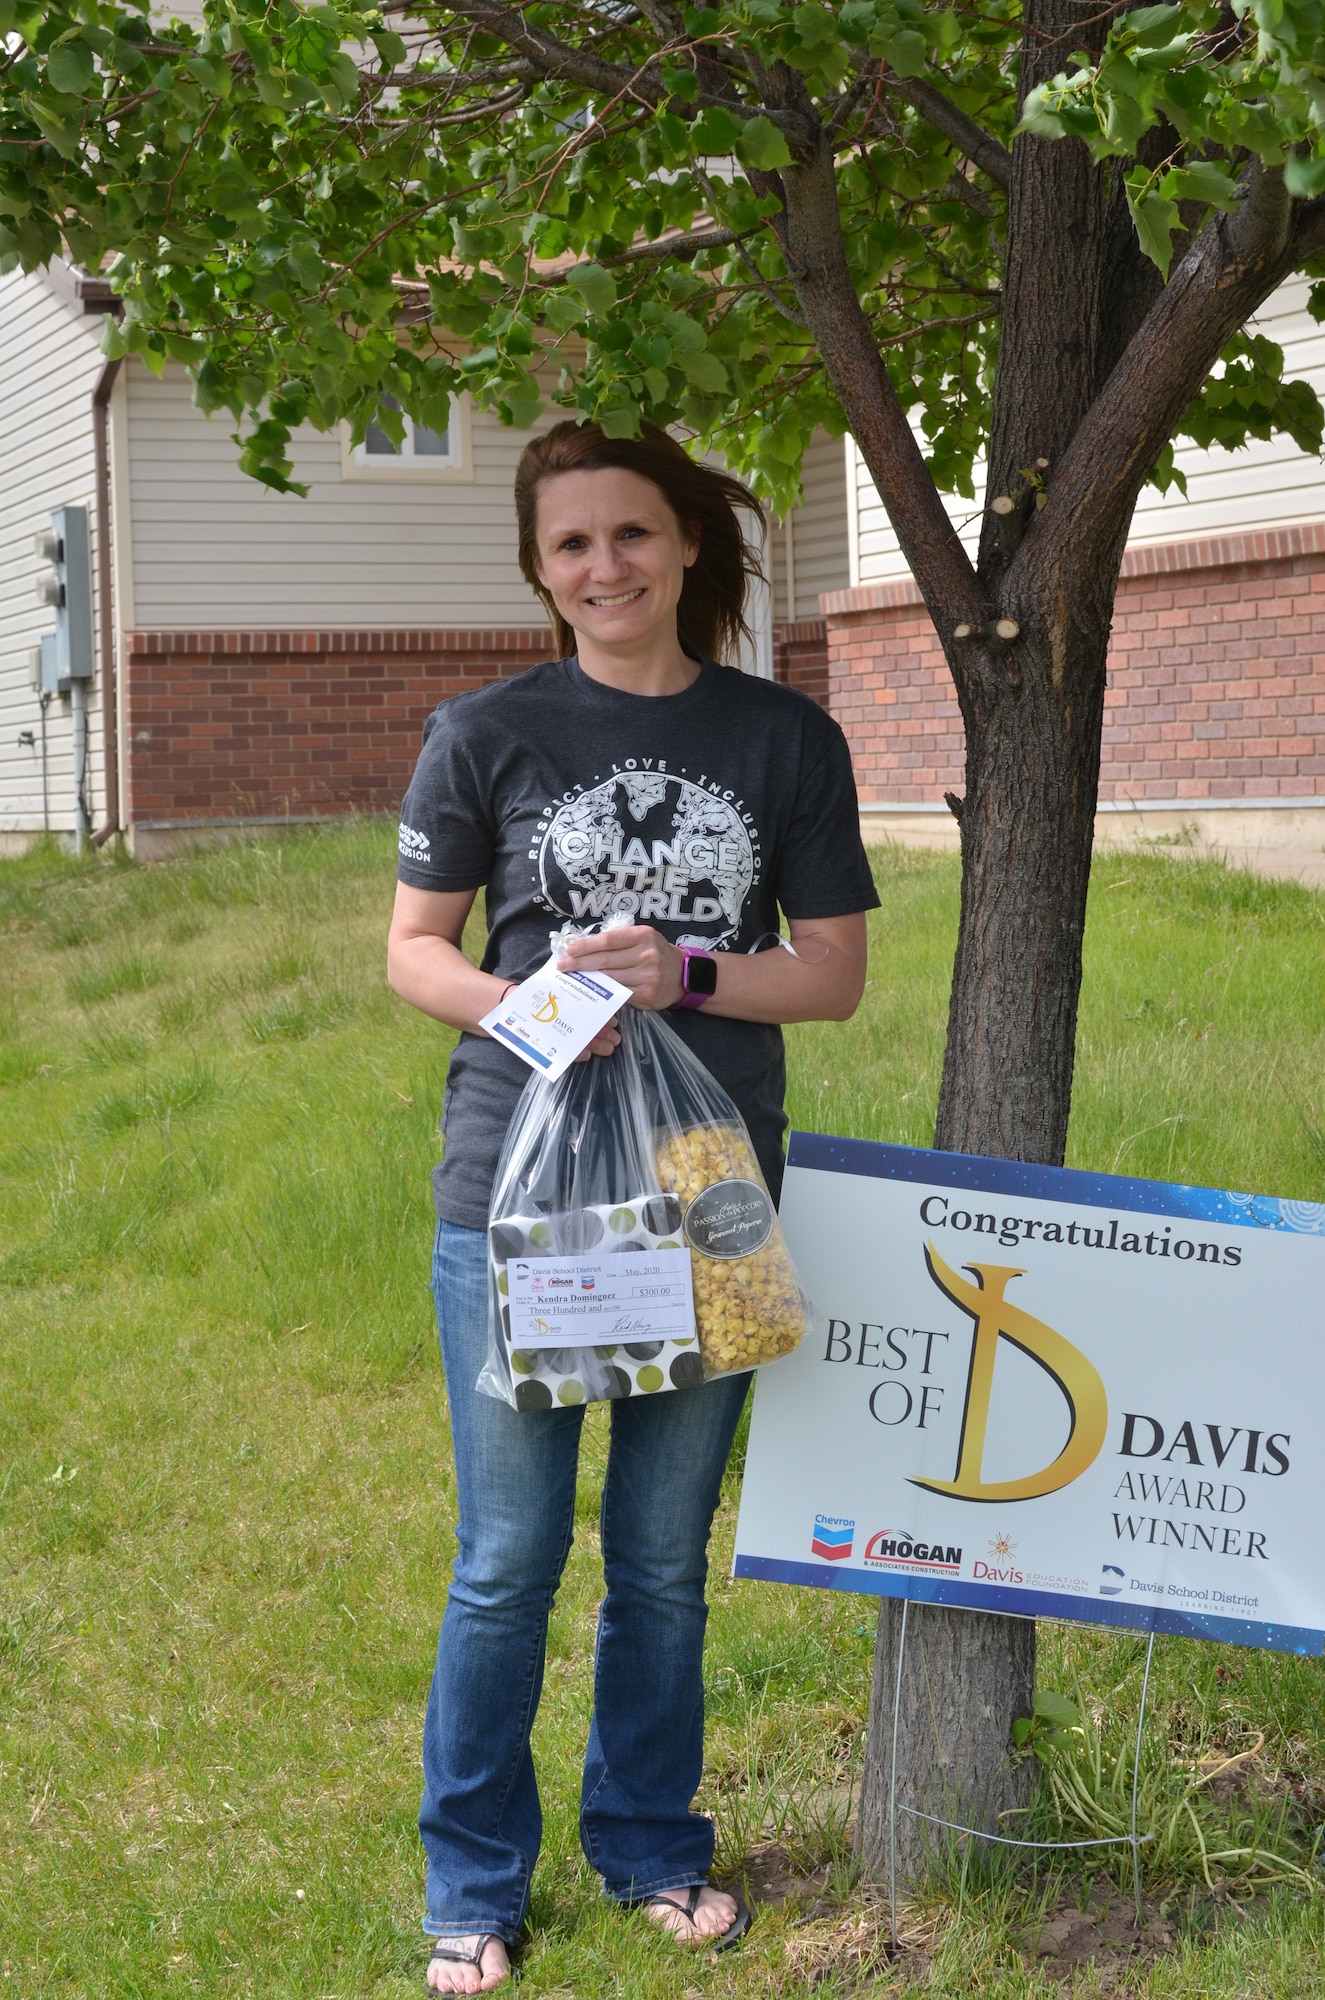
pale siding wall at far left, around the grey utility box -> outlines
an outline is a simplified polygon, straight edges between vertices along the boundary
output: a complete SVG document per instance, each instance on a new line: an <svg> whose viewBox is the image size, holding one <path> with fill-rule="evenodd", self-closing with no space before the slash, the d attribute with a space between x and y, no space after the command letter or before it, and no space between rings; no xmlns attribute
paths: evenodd
<svg viewBox="0 0 1325 2000"><path fill-rule="evenodd" d="M100 374L100 316L80 316L36 276L0 278L0 834L42 826L42 708L28 656L54 612L36 602L46 568L32 538L50 510L86 506L96 578L92 388ZM96 608L100 618L100 606ZM18 736L32 730L36 744ZM106 810L102 782L100 680L88 690L88 796L94 822ZM50 826L74 828L70 704L46 710Z"/></svg>

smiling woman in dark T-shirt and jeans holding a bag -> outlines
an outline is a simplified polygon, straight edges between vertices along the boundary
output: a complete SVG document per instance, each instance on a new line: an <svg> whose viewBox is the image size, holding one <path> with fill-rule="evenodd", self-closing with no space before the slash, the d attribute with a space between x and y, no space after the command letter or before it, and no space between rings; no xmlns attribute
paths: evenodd
<svg viewBox="0 0 1325 2000"><path fill-rule="evenodd" d="M462 1028L434 1172L432 1288L458 1488L458 1556L424 1720L428 1986L488 1992L510 1970L538 1858L530 1756L548 1610L570 1550L582 1408L520 1414L474 1392L486 1356L486 1222L528 1070L478 1030L548 932L608 914L562 964L667 1008L741 1108L769 1186L783 1172L779 1022L847 1020L865 986L851 758L803 694L715 658L757 574L733 478L665 432L556 424L516 472L520 568L560 660L446 702L402 806L390 984ZM486 892L482 966L460 948ZM801 956L755 946L779 926ZM809 944L809 950L805 946ZM618 1042L606 1028L592 1058ZM580 1838L604 1890L685 1944L749 1922L709 1886L703 1770L707 1546L749 1376L612 1404L602 1486L594 1714Z"/></svg>

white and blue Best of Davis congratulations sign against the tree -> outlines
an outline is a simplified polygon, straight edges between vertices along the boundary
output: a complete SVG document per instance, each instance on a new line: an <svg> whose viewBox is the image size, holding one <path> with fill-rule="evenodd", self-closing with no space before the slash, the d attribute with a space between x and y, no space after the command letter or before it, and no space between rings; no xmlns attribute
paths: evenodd
<svg viewBox="0 0 1325 2000"><path fill-rule="evenodd" d="M737 1576L1325 1650L1325 1206L797 1132Z"/></svg>

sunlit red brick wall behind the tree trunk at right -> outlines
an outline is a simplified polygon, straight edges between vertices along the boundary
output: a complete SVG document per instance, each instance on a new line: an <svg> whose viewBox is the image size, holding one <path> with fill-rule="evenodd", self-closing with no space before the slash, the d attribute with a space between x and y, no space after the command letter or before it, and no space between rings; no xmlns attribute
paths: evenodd
<svg viewBox="0 0 1325 2000"><path fill-rule="evenodd" d="M963 726L915 584L823 598L829 704L863 800L963 784ZM1325 522L1129 550L1101 798L1325 798Z"/></svg>

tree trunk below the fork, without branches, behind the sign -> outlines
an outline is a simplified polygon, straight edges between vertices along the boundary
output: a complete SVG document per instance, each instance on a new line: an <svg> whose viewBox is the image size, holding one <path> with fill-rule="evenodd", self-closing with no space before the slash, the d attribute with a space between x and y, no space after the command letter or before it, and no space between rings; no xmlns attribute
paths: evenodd
<svg viewBox="0 0 1325 2000"><path fill-rule="evenodd" d="M965 704L961 922L935 1144L1057 1162L1073 1084L1109 608L1105 598L1081 620L1053 594L1047 604L1029 598L1017 602L1027 638L991 656ZM1009 1748L1013 1722L1031 1714L1033 1620L911 1606L893 1772L901 1622L903 1606L885 1600L859 1828L873 1876L889 1870L893 1796L1015 1834L1001 1814L1031 1794L1031 1766L1015 1764ZM899 1880L921 1876L951 1840L899 1812Z"/></svg>

